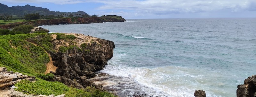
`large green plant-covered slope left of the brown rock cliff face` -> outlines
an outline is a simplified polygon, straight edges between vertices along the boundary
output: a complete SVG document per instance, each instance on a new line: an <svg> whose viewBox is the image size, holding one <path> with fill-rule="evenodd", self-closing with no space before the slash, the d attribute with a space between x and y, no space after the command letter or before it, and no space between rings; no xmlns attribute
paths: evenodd
<svg viewBox="0 0 256 97"><path fill-rule="evenodd" d="M45 64L50 61L48 54L40 45L47 45L47 39L37 40L36 37L49 36L46 33L36 34L16 34L0 36L0 64L3 64L8 70L20 73L36 74L44 73ZM26 41L33 41L38 46ZM48 41L49 42L49 41ZM49 42L50 43L50 42Z"/></svg>

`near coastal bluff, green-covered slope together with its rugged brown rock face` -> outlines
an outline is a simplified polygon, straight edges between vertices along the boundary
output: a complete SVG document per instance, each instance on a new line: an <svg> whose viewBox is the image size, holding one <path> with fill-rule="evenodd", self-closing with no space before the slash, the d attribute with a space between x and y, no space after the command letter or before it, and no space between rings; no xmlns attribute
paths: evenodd
<svg viewBox="0 0 256 97"><path fill-rule="evenodd" d="M0 39L6 45L4 47L2 47L3 45L1 46L0 59L2 59L0 60L0 65L3 70L0 72L6 71L4 66L10 70L10 72L0 73L0 91L5 87L12 87L19 79L31 80L33 78L32 80L35 80L33 76L37 78L40 77L37 76L38 74L47 75L49 73L54 75L51 79L45 79L49 82L59 81L68 87L78 89L84 89L88 86L101 88L101 85L96 85L89 79L95 76L94 72L102 70L107 65L108 60L113 57L115 48L115 44L112 41L77 33L16 34L1 36ZM17 40L19 42L15 42ZM24 53L19 53L20 51L28 53L27 56L21 55ZM26 61L26 58L23 57L23 59L19 57L17 60L15 59L16 56L26 57L29 61ZM3 58L9 59L4 60ZM44 60L44 63L36 63L39 60ZM12 66L14 62L17 63ZM37 66L24 66L27 63L36 64ZM32 69L28 71L27 68ZM5 77L5 75L10 74L17 76L11 70L14 70L14 72L21 71L21 73L29 74L29 76L24 75L25 77L23 77L21 73L17 73L22 77Z"/></svg>

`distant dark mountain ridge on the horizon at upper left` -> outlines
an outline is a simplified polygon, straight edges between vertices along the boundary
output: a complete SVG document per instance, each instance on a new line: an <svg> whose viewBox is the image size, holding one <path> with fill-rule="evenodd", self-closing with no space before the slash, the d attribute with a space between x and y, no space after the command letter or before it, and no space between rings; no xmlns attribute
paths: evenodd
<svg viewBox="0 0 256 97"><path fill-rule="evenodd" d="M61 15L66 14L87 14L84 11L77 11L77 12L60 12L60 11L50 11L47 8L42 8L42 7L36 7L36 6L30 6L30 5L25 5L25 6L12 6L8 7L7 5L4 5L0 3L0 16L4 15L16 15L18 17L23 17L25 14L31 14L31 13L39 13L40 15Z"/></svg>

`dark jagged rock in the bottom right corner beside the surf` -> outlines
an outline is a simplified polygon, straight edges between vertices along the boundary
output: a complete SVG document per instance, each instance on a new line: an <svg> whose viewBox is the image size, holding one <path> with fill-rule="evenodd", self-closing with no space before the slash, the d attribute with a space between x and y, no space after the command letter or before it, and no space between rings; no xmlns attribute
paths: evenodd
<svg viewBox="0 0 256 97"><path fill-rule="evenodd" d="M236 97L256 97L256 75L244 80L244 85L238 85Z"/></svg>

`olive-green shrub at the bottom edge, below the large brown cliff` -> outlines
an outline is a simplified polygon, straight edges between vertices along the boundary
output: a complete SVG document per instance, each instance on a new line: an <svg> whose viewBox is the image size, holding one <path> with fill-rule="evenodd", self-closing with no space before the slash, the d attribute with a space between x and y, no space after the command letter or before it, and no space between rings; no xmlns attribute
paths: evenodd
<svg viewBox="0 0 256 97"><path fill-rule="evenodd" d="M66 92L66 97L118 97L115 94L95 89L94 87L86 87L84 90L70 88Z"/></svg>

